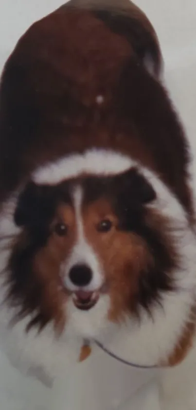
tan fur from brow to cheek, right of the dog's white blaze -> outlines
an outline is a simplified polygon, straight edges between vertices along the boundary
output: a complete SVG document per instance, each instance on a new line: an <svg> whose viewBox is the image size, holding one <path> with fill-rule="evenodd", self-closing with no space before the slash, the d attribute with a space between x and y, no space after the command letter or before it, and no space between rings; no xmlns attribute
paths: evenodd
<svg viewBox="0 0 196 410"><path fill-rule="evenodd" d="M96 226L104 219L109 219L113 227L107 233L99 233ZM153 263L152 257L142 238L118 230L117 217L105 200L89 206L84 213L84 226L105 272L111 301L108 318L119 321L125 313L136 310L139 276Z"/></svg>

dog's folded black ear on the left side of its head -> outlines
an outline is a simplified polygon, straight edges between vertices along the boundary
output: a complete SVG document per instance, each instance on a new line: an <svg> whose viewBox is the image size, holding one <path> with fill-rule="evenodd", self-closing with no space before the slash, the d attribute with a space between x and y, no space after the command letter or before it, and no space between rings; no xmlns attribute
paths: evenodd
<svg viewBox="0 0 196 410"><path fill-rule="evenodd" d="M54 195L48 187L30 182L19 195L14 220L18 226L39 226L51 217Z"/></svg>

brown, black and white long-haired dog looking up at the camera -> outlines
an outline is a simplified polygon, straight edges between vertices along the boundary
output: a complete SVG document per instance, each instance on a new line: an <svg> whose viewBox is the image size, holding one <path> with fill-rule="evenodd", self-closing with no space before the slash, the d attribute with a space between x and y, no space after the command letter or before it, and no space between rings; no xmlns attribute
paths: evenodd
<svg viewBox="0 0 196 410"><path fill-rule="evenodd" d="M0 324L51 367L124 326L133 361L160 367L161 410L195 410L190 154L162 65L128 0L71 0L19 40L0 86Z"/></svg>

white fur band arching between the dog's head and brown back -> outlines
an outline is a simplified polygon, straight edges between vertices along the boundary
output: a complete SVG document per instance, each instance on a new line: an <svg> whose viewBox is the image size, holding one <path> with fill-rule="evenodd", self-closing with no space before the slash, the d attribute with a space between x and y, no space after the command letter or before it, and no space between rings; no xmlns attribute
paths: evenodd
<svg viewBox="0 0 196 410"><path fill-rule="evenodd" d="M57 184L82 173L94 175L116 175L123 173L136 163L115 151L92 149L83 154L65 156L56 162L38 168L32 175L36 184Z"/></svg>

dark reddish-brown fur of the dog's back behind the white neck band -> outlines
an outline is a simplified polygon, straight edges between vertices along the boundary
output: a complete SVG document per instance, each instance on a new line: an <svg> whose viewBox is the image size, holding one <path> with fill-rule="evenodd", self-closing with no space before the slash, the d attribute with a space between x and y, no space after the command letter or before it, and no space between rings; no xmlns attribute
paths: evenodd
<svg viewBox="0 0 196 410"><path fill-rule="evenodd" d="M1 79L0 201L37 166L101 147L159 173L193 216L183 129L126 37L90 10L65 7L20 39Z"/></svg>

